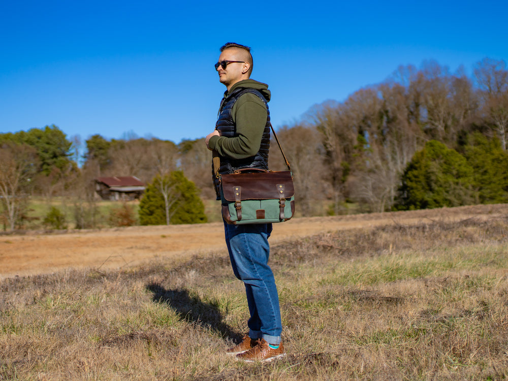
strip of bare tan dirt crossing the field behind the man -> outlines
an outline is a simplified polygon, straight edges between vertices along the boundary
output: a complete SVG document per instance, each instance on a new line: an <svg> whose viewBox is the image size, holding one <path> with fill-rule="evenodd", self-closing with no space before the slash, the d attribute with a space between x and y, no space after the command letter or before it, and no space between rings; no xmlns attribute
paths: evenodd
<svg viewBox="0 0 508 381"><path fill-rule="evenodd" d="M497 204L294 218L284 224L274 224L270 241L274 244L318 233L387 224L413 225L431 220L490 219L507 215L508 204ZM222 223L3 235L0 236L0 278L51 273L64 268L116 269L160 257L187 259L196 253L220 250L226 251Z"/></svg>

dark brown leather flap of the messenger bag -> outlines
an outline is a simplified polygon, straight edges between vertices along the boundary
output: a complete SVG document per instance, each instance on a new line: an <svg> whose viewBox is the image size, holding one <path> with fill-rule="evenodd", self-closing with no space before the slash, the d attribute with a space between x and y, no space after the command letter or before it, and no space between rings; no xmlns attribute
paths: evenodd
<svg viewBox="0 0 508 381"><path fill-rule="evenodd" d="M289 199L295 195L293 177L290 171L268 171L254 173L232 173L221 175L224 198L235 201L235 187L241 189L241 200L267 200L280 197L283 184L283 197Z"/></svg>

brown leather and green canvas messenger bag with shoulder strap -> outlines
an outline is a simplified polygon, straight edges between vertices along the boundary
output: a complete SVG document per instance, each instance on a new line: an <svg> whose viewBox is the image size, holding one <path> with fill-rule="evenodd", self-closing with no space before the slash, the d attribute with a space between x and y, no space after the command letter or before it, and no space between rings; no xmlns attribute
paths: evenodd
<svg viewBox="0 0 508 381"><path fill-rule="evenodd" d="M288 170L244 168L231 174L216 172L220 179L222 215L228 224L278 223L295 214L293 172L271 124L270 127Z"/></svg>

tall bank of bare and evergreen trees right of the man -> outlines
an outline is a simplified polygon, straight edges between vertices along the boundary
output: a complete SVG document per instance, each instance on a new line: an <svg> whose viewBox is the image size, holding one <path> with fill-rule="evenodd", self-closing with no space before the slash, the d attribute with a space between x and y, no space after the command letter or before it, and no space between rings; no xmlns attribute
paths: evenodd
<svg viewBox="0 0 508 381"><path fill-rule="evenodd" d="M507 128L506 63L485 58L471 77L435 61L401 66L344 102L313 106L278 135L298 208L316 215L319 200L331 201L330 214L347 212L348 202L365 212L507 202ZM460 181L439 177L452 173Z"/></svg>

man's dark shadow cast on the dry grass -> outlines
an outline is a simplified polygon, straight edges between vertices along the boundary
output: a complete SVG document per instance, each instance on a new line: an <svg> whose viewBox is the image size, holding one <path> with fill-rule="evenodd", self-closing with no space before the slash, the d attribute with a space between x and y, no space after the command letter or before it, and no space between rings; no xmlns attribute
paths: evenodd
<svg viewBox="0 0 508 381"><path fill-rule="evenodd" d="M216 305L204 303L197 296L191 297L187 290L166 290L158 283L147 284L146 289L153 293L154 302L166 303L176 311L181 320L209 327L220 332L225 339L241 339L239 333L223 323L223 316Z"/></svg>

